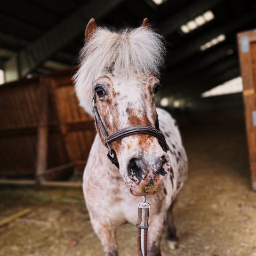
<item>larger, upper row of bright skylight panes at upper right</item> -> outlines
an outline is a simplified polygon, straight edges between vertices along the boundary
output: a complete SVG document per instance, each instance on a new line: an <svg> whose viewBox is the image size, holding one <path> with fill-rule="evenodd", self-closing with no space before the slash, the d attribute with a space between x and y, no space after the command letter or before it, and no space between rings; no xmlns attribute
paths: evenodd
<svg viewBox="0 0 256 256"><path fill-rule="evenodd" d="M188 34L189 32L197 29L198 27L203 26L205 23L214 19L214 14L211 10L204 12L203 14L197 16L193 20L189 20L186 24L180 26L180 30L184 34Z"/></svg>

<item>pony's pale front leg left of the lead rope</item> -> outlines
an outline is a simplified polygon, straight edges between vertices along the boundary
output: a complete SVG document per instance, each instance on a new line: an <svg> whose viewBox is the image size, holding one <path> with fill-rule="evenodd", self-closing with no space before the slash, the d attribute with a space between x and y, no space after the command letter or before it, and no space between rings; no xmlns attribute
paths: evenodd
<svg viewBox="0 0 256 256"><path fill-rule="evenodd" d="M97 220L91 219L91 222L95 233L100 238L105 256L117 256L116 228L103 225Z"/></svg>

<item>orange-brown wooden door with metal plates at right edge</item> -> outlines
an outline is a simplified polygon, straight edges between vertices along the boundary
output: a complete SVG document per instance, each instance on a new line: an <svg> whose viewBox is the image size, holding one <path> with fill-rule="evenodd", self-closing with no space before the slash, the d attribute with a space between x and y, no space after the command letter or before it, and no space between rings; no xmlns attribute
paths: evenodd
<svg viewBox="0 0 256 256"><path fill-rule="evenodd" d="M252 188L256 191L256 30L237 35Z"/></svg>

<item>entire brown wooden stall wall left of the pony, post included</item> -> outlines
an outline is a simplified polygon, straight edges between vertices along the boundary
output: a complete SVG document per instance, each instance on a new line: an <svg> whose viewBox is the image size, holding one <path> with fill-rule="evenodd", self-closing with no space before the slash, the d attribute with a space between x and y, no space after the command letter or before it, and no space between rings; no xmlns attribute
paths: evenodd
<svg viewBox="0 0 256 256"><path fill-rule="evenodd" d="M95 136L73 69L0 86L0 178L61 180L82 172Z"/></svg>

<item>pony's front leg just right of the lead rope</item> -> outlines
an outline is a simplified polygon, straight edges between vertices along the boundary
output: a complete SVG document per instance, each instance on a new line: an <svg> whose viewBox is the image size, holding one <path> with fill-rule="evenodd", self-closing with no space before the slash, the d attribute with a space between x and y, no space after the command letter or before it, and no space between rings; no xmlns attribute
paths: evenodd
<svg viewBox="0 0 256 256"><path fill-rule="evenodd" d="M164 231L166 214L159 214L153 217L148 230L148 256L161 256L160 241Z"/></svg>

